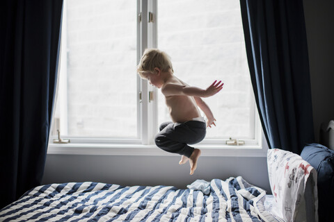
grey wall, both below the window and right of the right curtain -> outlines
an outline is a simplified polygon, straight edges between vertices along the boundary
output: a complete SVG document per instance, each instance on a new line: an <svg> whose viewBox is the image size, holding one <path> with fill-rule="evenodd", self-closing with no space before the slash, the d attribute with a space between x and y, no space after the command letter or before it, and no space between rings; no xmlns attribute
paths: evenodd
<svg viewBox="0 0 334 222"><path fill-rule="evenodd" d="M334 119L333 4L331 0L304 0L317 139L320 123ZM178 161L178 156L47 155L42 182L97 181L185 188L198 178L243 176L248 182L270 190L265 157L200 157L193 176L189 176L189 165L179 166Z"/></svg>

